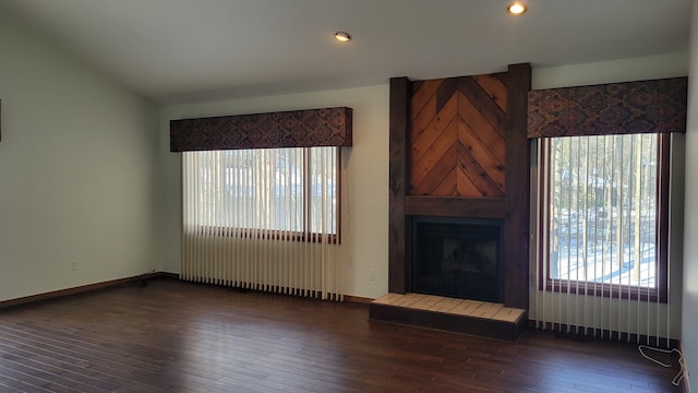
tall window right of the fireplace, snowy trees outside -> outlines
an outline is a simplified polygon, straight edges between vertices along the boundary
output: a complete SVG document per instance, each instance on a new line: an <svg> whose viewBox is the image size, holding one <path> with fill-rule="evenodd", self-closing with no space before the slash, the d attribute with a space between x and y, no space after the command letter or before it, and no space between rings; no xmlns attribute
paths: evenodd
<svg viewBox="0 0 698 393"><path fill-rule="evenodd" d="M666 299L667 134L542 140L551 290Z"/></svg>

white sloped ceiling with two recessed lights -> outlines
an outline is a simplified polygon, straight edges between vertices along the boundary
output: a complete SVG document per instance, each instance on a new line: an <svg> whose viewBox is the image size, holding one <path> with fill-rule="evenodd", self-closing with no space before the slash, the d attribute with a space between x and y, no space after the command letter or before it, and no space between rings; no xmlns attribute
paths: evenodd
<svg viewBox="0 0 698 393"><path fill-rule="evenodd" d="M690 0L0 0L158 102L243 97L686 50ZM353 40L339 45L337 29Z"/></svg>

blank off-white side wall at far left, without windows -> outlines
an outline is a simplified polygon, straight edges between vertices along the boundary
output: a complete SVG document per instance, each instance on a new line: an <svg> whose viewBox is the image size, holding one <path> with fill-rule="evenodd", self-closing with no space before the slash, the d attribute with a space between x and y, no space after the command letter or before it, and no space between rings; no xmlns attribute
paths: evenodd
<svg viewBox="0 0 698 393"><path fill-rule="evenodd" d="M0 300L157 269L155 107L5 19Z"/></svg>

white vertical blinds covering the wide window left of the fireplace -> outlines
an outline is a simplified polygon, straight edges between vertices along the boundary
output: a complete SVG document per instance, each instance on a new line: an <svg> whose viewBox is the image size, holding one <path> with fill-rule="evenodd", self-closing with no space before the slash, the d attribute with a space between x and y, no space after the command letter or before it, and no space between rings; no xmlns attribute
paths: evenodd
<svg viewBox="0 0 698 393"><path fill-rule="evenodd" d="M339 151L183 153L182 278L341 300Z"/></svg>

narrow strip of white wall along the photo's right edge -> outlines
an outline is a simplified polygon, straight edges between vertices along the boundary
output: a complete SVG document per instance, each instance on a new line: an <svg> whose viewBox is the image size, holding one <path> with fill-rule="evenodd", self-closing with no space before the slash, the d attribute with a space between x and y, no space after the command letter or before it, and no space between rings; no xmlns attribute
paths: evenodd
<svg viewBox="0 0 698 393"><path fill-rule="evenodd" d="M686 205L684 210L684 296L682 344L688 376L698 376L698 1L694 1L688 71L688 131L686 132Z"/></svg>

